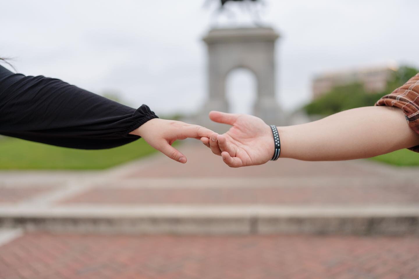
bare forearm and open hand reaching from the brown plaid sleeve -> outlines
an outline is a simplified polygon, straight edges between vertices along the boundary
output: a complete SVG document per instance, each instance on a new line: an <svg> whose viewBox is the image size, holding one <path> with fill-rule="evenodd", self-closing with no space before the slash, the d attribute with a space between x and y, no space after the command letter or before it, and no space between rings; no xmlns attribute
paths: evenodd
<svg viewBox="0 0 419 279"><path fill-rule="evenodd" d="M233 125L223 134L202 138L213 153L232 167L264 164L272 158L274 142L260 118L211 112L216 122ZM278 127L280 158L306 161L359 159L419 145L419 134L407 124L403 111L385 106L343 111L302 125Z"/></svg>

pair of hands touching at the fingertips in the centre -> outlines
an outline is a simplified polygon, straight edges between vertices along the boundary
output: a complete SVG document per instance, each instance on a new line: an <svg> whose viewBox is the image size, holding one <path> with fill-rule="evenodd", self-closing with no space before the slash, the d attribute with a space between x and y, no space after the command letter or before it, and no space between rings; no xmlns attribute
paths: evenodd
<svg viewBox="0 0 419 279"><path fill-rule="evenodd" d="M150 146L181 163L186 163L186 156L171 145L186 138L200 139L214 154L222 156L230 167L260 165L272 158L272 131L260 118L217 111L209 113L209 118L232 127L227 133L219 135L199 125L154 118L131 134L141 136Z"/></svg>

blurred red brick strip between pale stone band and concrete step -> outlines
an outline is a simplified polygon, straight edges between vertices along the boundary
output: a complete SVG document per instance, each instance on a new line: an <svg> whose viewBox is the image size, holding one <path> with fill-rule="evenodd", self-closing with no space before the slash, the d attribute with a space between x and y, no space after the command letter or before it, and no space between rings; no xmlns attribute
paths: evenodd
<svg viewBox="0 0 419 279"><path fill-rule="evenodd" d="M141 183L141 181L139 181ZM305 187L124 188L99 187L63 203L89 204L418 204L419 185Z"/></svg>

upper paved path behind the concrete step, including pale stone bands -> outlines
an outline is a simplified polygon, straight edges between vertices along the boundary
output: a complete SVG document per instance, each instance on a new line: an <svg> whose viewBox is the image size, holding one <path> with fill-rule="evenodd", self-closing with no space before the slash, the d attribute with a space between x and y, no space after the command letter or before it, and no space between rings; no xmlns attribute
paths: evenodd
<svg viewBox="0 0 419 279"><path fill-rule="evenodd" d="M104 172L0 173L7 205L418 205L418 168L281 159L232 169L204 146L186 165L163 155Z"/></svg>

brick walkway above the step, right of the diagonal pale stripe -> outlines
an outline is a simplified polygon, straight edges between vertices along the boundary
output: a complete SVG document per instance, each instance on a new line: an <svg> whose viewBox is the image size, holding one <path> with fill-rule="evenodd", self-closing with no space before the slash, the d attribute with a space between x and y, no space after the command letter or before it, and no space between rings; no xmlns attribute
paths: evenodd
<svg viewBox="0 0 419 279"><path fill-rule="evenodd" d="M188 163L164 156L102 182L65 204L418 204L419 184L359 161L281 159L233 169L204 146L180 146ZM407 177L409 178L409 177ZM166 180L164 180L166 179ZM211 180L212 179L212 180ZM352 179L352 180L351 180ZM355 179L355 180L354 180ZM211 182L207 183L209 180ZM176 184L176 187L173 185ZM235 184L235 187L230 187Z"/></svg>

